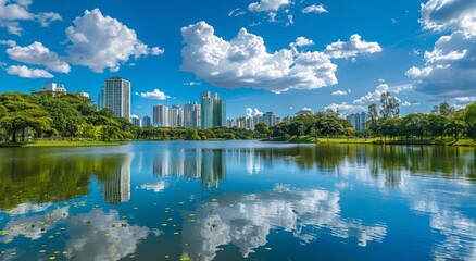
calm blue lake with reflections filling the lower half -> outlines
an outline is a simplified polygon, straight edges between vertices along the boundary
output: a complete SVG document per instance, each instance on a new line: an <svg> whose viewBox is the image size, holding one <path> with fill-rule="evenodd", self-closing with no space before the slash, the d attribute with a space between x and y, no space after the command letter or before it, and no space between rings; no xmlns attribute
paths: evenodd
<svg viewBox="0 0 476 261"><path fill-rule="evenodd" d="M476 260L475 148L0 149L3 260Z"/></svg>

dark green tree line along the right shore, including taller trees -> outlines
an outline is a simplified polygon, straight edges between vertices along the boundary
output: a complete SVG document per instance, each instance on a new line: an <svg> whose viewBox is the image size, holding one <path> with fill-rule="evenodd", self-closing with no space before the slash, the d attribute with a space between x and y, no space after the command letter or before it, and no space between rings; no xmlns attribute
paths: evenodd
<svg viewBox="0 0 476 261"><path fill-rule="evenodd" d="M281 122L267 127L264 123L255 126L255 136L273 140L287 140L292 137L381 137L384 140L414 140L440 137L461 137L476 139L476 102L461 110L455 110L443 101L435 105L429 113L410 113L400 116L400 104L396 97L388 92L380 96L379 110L377 104L368 105L366 130L359 130L340 117L339 110L312 113L300 111L290 122Z"/></svg>

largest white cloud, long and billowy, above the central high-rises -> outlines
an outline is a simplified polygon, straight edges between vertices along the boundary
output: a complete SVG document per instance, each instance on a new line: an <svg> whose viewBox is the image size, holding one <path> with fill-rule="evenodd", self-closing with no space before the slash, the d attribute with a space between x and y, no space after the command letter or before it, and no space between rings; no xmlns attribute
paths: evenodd
<svg viewBox="0 0 476 261"><path fill-rule="evenodd" d="M337 66L322 52L293 53L283 49L267 53L260 36L241 28L235 38L225 41L205 22L183 27L181 35L185 44L181 70L215 86L279 94L337 84Z"/></svg>

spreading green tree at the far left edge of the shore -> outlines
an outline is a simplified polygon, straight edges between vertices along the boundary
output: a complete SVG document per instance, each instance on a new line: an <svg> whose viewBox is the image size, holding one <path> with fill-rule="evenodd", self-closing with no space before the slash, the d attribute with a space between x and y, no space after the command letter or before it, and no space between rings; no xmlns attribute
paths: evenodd
<svg viewBox="0 0 476 261"><path fill-rule="evenodd" d="M4 108L0 125L11 134L12 142L17 141L17 133L25 127L37 130L51 128L51 116L37 103L34 97L25 94L5 92L0 96L0 104Z"/></svg>

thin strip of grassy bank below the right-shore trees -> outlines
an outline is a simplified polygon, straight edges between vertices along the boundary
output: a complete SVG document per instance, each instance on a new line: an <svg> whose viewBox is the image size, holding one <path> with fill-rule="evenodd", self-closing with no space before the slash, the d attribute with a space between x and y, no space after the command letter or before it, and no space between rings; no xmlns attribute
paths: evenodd
<svg viewBox="0 0 476 261"><path fill-rule="evenodd" d="M317 140L310 136L292 137L290 139L277 138L273 141L288 141L291 144L361 144L361 145L431 145L431 146L476 146L476 141L469 138L461 138L455 140L452 137L444 137L442 140L439 138L430 139L383 139L383 138L325 138L321 137Z"/></svg>

